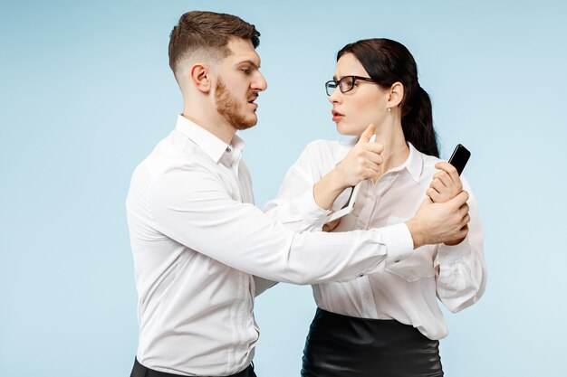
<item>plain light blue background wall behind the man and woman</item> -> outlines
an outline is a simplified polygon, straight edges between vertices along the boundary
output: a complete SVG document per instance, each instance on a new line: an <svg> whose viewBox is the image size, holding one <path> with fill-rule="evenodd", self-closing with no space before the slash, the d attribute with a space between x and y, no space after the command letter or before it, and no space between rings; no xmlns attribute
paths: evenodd
<svg viewBox="0 0 567 377"><path fill-rule="evenodd" d="M447 158L485 223L485 297L447 314L447 376L565 375L567 3L50 1L0 5L0 375L129 375L136 291L124 200L182 102L168 33L192 9L262 33L269 89L241 134L256 203L315 138L337 138L322 83L347 42L403 42ZM259 297L261 377L299 375L310 287Z"/></svg>

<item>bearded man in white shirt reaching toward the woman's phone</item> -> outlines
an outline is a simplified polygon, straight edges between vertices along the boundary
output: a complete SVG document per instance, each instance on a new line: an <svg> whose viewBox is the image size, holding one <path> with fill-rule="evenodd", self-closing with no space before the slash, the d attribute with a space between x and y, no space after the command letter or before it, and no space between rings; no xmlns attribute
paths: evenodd
<svg viewBox="0 0 567 377"><path fill-rule="evenodd" d="M464 192L370 231L294 234L257 209L235 132L255 125L255 99L266 89L259 35L234 15L209 12L184 14L171 33L183 113L136 168L127 199L139 293L132 376L255 376L254 297L270 280L350 280L466 234ZM380 147L360 143L370 177ZM316 206L312 195L302 206Z"/></svg>

